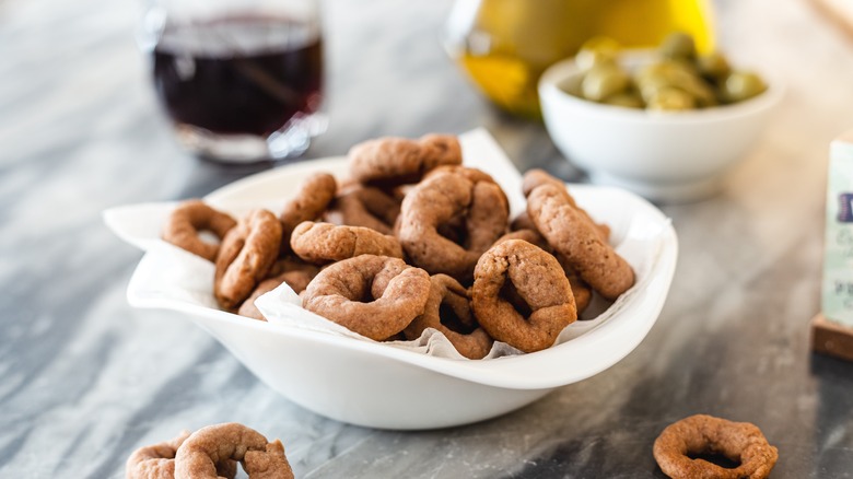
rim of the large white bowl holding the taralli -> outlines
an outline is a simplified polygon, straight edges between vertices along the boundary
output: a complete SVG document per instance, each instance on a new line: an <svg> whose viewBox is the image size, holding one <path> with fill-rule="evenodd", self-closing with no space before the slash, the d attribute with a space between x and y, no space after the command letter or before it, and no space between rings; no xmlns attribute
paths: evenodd
<svg viewBox="0 0 853 479"><path fill-rule="evenodd" d="M246 199L243 195L255 192L255 188L253 188L255 185L260 185L265 182L274 183L277 178L292 178L297 172L314 172L318 168L339 171L336 166L339 167L343 161L340 157L323 159L316 162L299 163L261 172L225 185L206 196L205 199L211 203L230 199L245 201ZM454 360L371 341L354 340L353 338L328 332L284 327L265 322L247 322L245 318L232 313L177 300L140 294L136 287L137 282L141 280L138 278L139 266L128 284L128 302L135 307L172 309L186 313L190 316L189 319L202 329L207 329L203 325L205 320L224 322L241 328L261 329L265 330L265 334L309 340L317 344L346 348L358 353L376 354L445 376L499 388L550 389L564 386L591 377L615 365L640 344L661 314L673 281L678 256L678 240L671 222L659 209L645 199L620 188L592 185L570 185L570 187L581 202L583 202L584 196L594 196L596 194L611 196L615 201L631 201L638 208L638 213L651 214L659 221L662 226L662 245L648 270L648 281L644 284L644 288L650 290L650 294L638 293L634 299L635 302L630 303L638 311L642 308L645 312L643 317L638 318L631 314L615 315L607 322L596 325L589 331L571 341L537 351L536 353L503 357L488 361ZM143 257L142 261L144 259ZM140 261L140 265L142 261ZM620 347L612 348L611 344L615 341L618 341ZM593 353L597 359L594 362L589 362L587 359ZM565 364L573 364L576 367L565 367ZM537 374L537 372L540 374Z"/></svg>

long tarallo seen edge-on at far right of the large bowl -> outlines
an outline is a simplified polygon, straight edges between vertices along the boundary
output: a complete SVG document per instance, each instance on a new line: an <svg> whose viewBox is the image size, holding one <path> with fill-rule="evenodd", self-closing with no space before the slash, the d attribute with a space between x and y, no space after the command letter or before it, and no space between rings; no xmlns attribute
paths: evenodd
<svg viewBox="0 0 853 479"><path fill-rule="evenodd" d="M634 272L566 197L565 188L538 186L527 197L527 213L581 279L605 299L616 300L633 285Z"/></svg>

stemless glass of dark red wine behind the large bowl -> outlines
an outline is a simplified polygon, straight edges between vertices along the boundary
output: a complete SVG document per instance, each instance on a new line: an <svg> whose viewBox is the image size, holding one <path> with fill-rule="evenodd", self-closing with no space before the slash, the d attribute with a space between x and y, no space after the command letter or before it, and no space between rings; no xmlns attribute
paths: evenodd
<svg viewBox="0 0 853 479"><path fill-rule="evenodd" d="M147 13L160 103L198 156L302 154L325 130L319 0L160 0Z"/></svg>

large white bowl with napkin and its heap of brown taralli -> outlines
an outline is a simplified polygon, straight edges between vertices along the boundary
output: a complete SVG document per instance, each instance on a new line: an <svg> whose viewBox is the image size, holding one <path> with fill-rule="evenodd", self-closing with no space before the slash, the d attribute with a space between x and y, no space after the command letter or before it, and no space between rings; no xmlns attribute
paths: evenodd
<svg viewBox="0 0 853 479"><path fill-rule="evenodd" d="M371 140L104 218L145 250L132 306L191 320L308 410L398 430L496 417L616 364L678 249L644 199L523 177L484 130Z"/></svg>

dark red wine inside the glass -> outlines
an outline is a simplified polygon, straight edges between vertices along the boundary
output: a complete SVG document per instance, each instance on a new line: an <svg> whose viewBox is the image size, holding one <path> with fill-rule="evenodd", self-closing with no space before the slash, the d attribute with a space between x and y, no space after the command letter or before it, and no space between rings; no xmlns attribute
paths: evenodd
<svg viewBox="0 0 853 479"><path fill-rule="evenodd" d="M154 85L176 122L266 137L319 106L322 50L317 27L287 19L166 25Z"/></svg>

